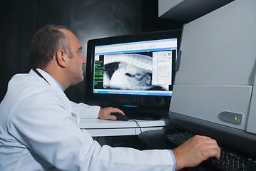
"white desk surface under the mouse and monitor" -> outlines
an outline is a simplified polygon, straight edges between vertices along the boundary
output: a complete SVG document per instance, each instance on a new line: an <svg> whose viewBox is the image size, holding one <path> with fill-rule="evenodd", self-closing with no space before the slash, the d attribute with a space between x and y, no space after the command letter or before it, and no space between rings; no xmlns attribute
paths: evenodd
<svg viewBox="0 0 256 171"><path fill-rule="evenodd" d="M86 129L92 137L139 135L145 130L161 130L168 125L168 119L160 120L101 120L101 119L81 119L79 127ZM141 129L141 130L140 130Z"/></svg>

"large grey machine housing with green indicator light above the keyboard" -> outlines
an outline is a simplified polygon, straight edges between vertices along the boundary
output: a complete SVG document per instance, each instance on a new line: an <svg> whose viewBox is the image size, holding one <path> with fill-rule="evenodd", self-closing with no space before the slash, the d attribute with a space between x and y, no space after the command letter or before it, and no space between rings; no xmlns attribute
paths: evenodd
<svg viewBox="0 0 256 171"><path fill-rule="evenodd" d="M256 157L256 1L236 0L185 24L169 117Z"/></svg>

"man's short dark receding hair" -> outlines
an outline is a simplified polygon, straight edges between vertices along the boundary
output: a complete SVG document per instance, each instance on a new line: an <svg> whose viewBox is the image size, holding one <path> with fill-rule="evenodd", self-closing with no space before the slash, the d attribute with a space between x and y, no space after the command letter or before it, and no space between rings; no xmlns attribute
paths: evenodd
<svg viewBox="0 0 256 171"><path fill-rule="evenodd" d="M59 49L72 58L68 36L61 29L71 31L66 26L47 25L35 33L30 48L32 67L46 68Z"/></svg>

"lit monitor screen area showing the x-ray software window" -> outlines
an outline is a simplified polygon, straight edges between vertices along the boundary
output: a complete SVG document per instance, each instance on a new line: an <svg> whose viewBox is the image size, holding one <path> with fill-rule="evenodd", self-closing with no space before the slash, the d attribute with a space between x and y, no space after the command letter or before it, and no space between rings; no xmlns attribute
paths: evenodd
<svg viewBox="0 0 256 171"><path fill-rule="evenodd" d="M94 93L171 95L177 38L96 46Z"/></svg>

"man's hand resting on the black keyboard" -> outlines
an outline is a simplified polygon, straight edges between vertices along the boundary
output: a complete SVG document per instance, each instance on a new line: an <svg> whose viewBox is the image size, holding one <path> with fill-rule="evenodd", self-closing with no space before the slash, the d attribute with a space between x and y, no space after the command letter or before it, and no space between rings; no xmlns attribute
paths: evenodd
<svg viewBox="0 0 256 171"><path fill-rule="evenodd" d="M183 167L195 167L209 157L220 158L220 147L211 138L195 135L173 150L176 170Z"/></svg>

